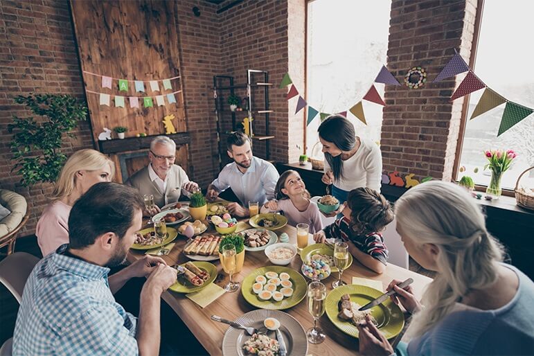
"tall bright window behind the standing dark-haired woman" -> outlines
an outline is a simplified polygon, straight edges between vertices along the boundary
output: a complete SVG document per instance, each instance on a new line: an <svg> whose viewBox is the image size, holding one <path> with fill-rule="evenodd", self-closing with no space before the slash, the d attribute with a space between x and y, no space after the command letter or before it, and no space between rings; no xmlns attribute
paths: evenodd
<svg viewBox="0 0 534 356"><path fill-rule="evenodd" d="M348 111L362 100L386 64L391 0L314 0L308 2L307 98L320 112ZM384 98L384 84L375 84ZM382 106L364 100L367 125L348 119L358 136L380 141ZM319 141L319 115L308 125L308 154Z"/></svg>

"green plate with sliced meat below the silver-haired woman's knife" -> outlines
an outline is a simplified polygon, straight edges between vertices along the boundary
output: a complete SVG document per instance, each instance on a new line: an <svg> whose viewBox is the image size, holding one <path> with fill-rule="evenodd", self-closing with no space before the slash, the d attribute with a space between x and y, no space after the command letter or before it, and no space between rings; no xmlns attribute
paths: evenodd
<svg viewBox="0 0 534 356"><path fill-rule="evenodd" d="M337 303L343 294L349 294L350 301L363 306L384 293L366 285L343 285L332 290L326 297L325 305L328 319L342 332L358 337L356 326L337 317L339 313ZM387 299L384 303L371 308L371 315L376 319L378 329L382 331L387 339L397 336L404 327L404 314L391 299Z"/></svg>

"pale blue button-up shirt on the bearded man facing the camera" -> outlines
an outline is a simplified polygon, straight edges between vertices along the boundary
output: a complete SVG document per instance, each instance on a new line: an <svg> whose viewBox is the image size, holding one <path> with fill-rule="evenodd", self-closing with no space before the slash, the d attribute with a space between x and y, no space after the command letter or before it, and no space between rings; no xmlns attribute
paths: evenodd
<svg viewBox="0 0 534 356"><path fill-rule="evenodd" d="M250 167L244 174L238 169L238 165L232 162L222 168L219 177L211 184L219 193L232 188L241 204L248 208L249 202L258 202L261 205L274 199L274 188L279 177L272 163L252 157Z"/></svg>

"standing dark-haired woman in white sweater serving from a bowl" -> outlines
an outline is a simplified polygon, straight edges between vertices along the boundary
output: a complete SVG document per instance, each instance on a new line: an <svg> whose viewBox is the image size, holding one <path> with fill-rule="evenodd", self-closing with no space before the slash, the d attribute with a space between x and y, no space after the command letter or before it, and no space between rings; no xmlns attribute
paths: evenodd
<svg viewBox="0 0 534 356"><path fill-rule="evenodd" d="M341 115L328 116L318 131L326 158L322 181L332 184L332 195L343 203L355 188L380 193L382 154L378 145L356 136L353 124Z"/></svg>

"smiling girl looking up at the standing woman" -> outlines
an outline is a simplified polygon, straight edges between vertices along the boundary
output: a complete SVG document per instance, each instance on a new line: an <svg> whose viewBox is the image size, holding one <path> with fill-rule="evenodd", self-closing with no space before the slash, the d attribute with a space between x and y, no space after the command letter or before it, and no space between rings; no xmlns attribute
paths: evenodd
<svg viewBox="0 0 534 356"><path fill-rule="evenodd" d="M283 172L276 182L274 194L277 200L265 203L261 208L262 213L283 211L287 222L292 226L303 222L310 226L310 233L323 229L319 208L317 204L310 202L310 193L299 173L294 170Z"/></svg>

